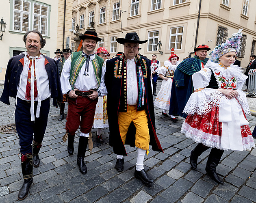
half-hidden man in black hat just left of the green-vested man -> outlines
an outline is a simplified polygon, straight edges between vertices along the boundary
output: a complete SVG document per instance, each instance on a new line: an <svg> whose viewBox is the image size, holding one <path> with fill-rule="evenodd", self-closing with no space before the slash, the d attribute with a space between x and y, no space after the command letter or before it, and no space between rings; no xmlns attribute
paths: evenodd
<svg viewBox="0 0 256 203"><path fill-rule="evenodd" d="M59 58L56 62L58 64L58 71L59 71L59 75L61 76L61 72L63 69L63 65L65 63L65 60L68 59L68 57L71 55L72 51L70 48L68 49L63 49L62 50L63 56L62 58ZM60 104L60 117L59 117L59 121L62 121L64 119L64 109L65 109L65 102L67 102L67 94L63 95L63 100Z"/></svg>

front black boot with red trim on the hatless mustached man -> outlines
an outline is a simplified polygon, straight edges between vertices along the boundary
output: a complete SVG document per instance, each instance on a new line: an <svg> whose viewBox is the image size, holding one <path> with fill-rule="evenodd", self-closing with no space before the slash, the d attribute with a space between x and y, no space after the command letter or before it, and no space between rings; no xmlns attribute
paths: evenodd
<svg viewBox="0 0 256 203"><path fill-rule="evenodd" d="M32 154L22 155L22 175L23 175L23 185L20 188L18 199L23 200L28 196L28 190L33 182L33 166L32 166Z"/></svg>

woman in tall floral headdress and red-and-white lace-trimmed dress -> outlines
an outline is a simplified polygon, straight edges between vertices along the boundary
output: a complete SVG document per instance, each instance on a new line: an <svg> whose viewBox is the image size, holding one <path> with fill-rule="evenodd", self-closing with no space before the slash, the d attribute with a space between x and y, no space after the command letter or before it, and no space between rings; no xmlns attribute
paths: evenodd
<svg viewBox="0 0 256 203"><path fill-rule="evenodd" d="M195 92L190 96L183 113L188 114L181 132L199 143L191 151L190 164L197 167L197 158L212 147L206 163L206 172L217 183L223 180L216 167L224 150L255 148L245 114L250 114L246 95L241 91L247 76L241 68L232 65L240 49L242 33L231 38L211 52L212 57L201 71L192 76Z"/></svg>

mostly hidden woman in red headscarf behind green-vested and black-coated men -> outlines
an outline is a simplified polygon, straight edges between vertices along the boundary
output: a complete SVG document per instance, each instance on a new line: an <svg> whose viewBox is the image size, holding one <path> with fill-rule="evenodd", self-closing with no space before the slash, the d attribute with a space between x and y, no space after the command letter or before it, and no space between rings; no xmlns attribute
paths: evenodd
<svg viewBox="0 0 256 203"><path fill-rule="evenodd" d="M103 66L106 66L106 58L110 56L106 48L100 47L96 50L96 54L104 59ZM102 143L102 136L100 132L102 128L108 127L108 114L106 111L106 96L99 97L98 103L96 105L93 127L97 128L97 141Z"/></svg>

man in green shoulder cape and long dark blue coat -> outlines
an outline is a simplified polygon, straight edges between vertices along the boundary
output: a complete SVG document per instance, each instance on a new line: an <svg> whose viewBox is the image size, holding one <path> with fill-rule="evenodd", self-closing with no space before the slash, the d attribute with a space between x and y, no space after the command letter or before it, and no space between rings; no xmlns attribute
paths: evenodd
<svg viewBox="0 0 256 203"><path fill-rule="evenodd" d="M209 50L208 45L198 45L194 49L195 56L183 60L178 65L174 72L173 86L171 88L169 115L178 114L183 118L187 117L183 110L193 92L192 75L204 68L209 59L206 58Z"/></svg>

